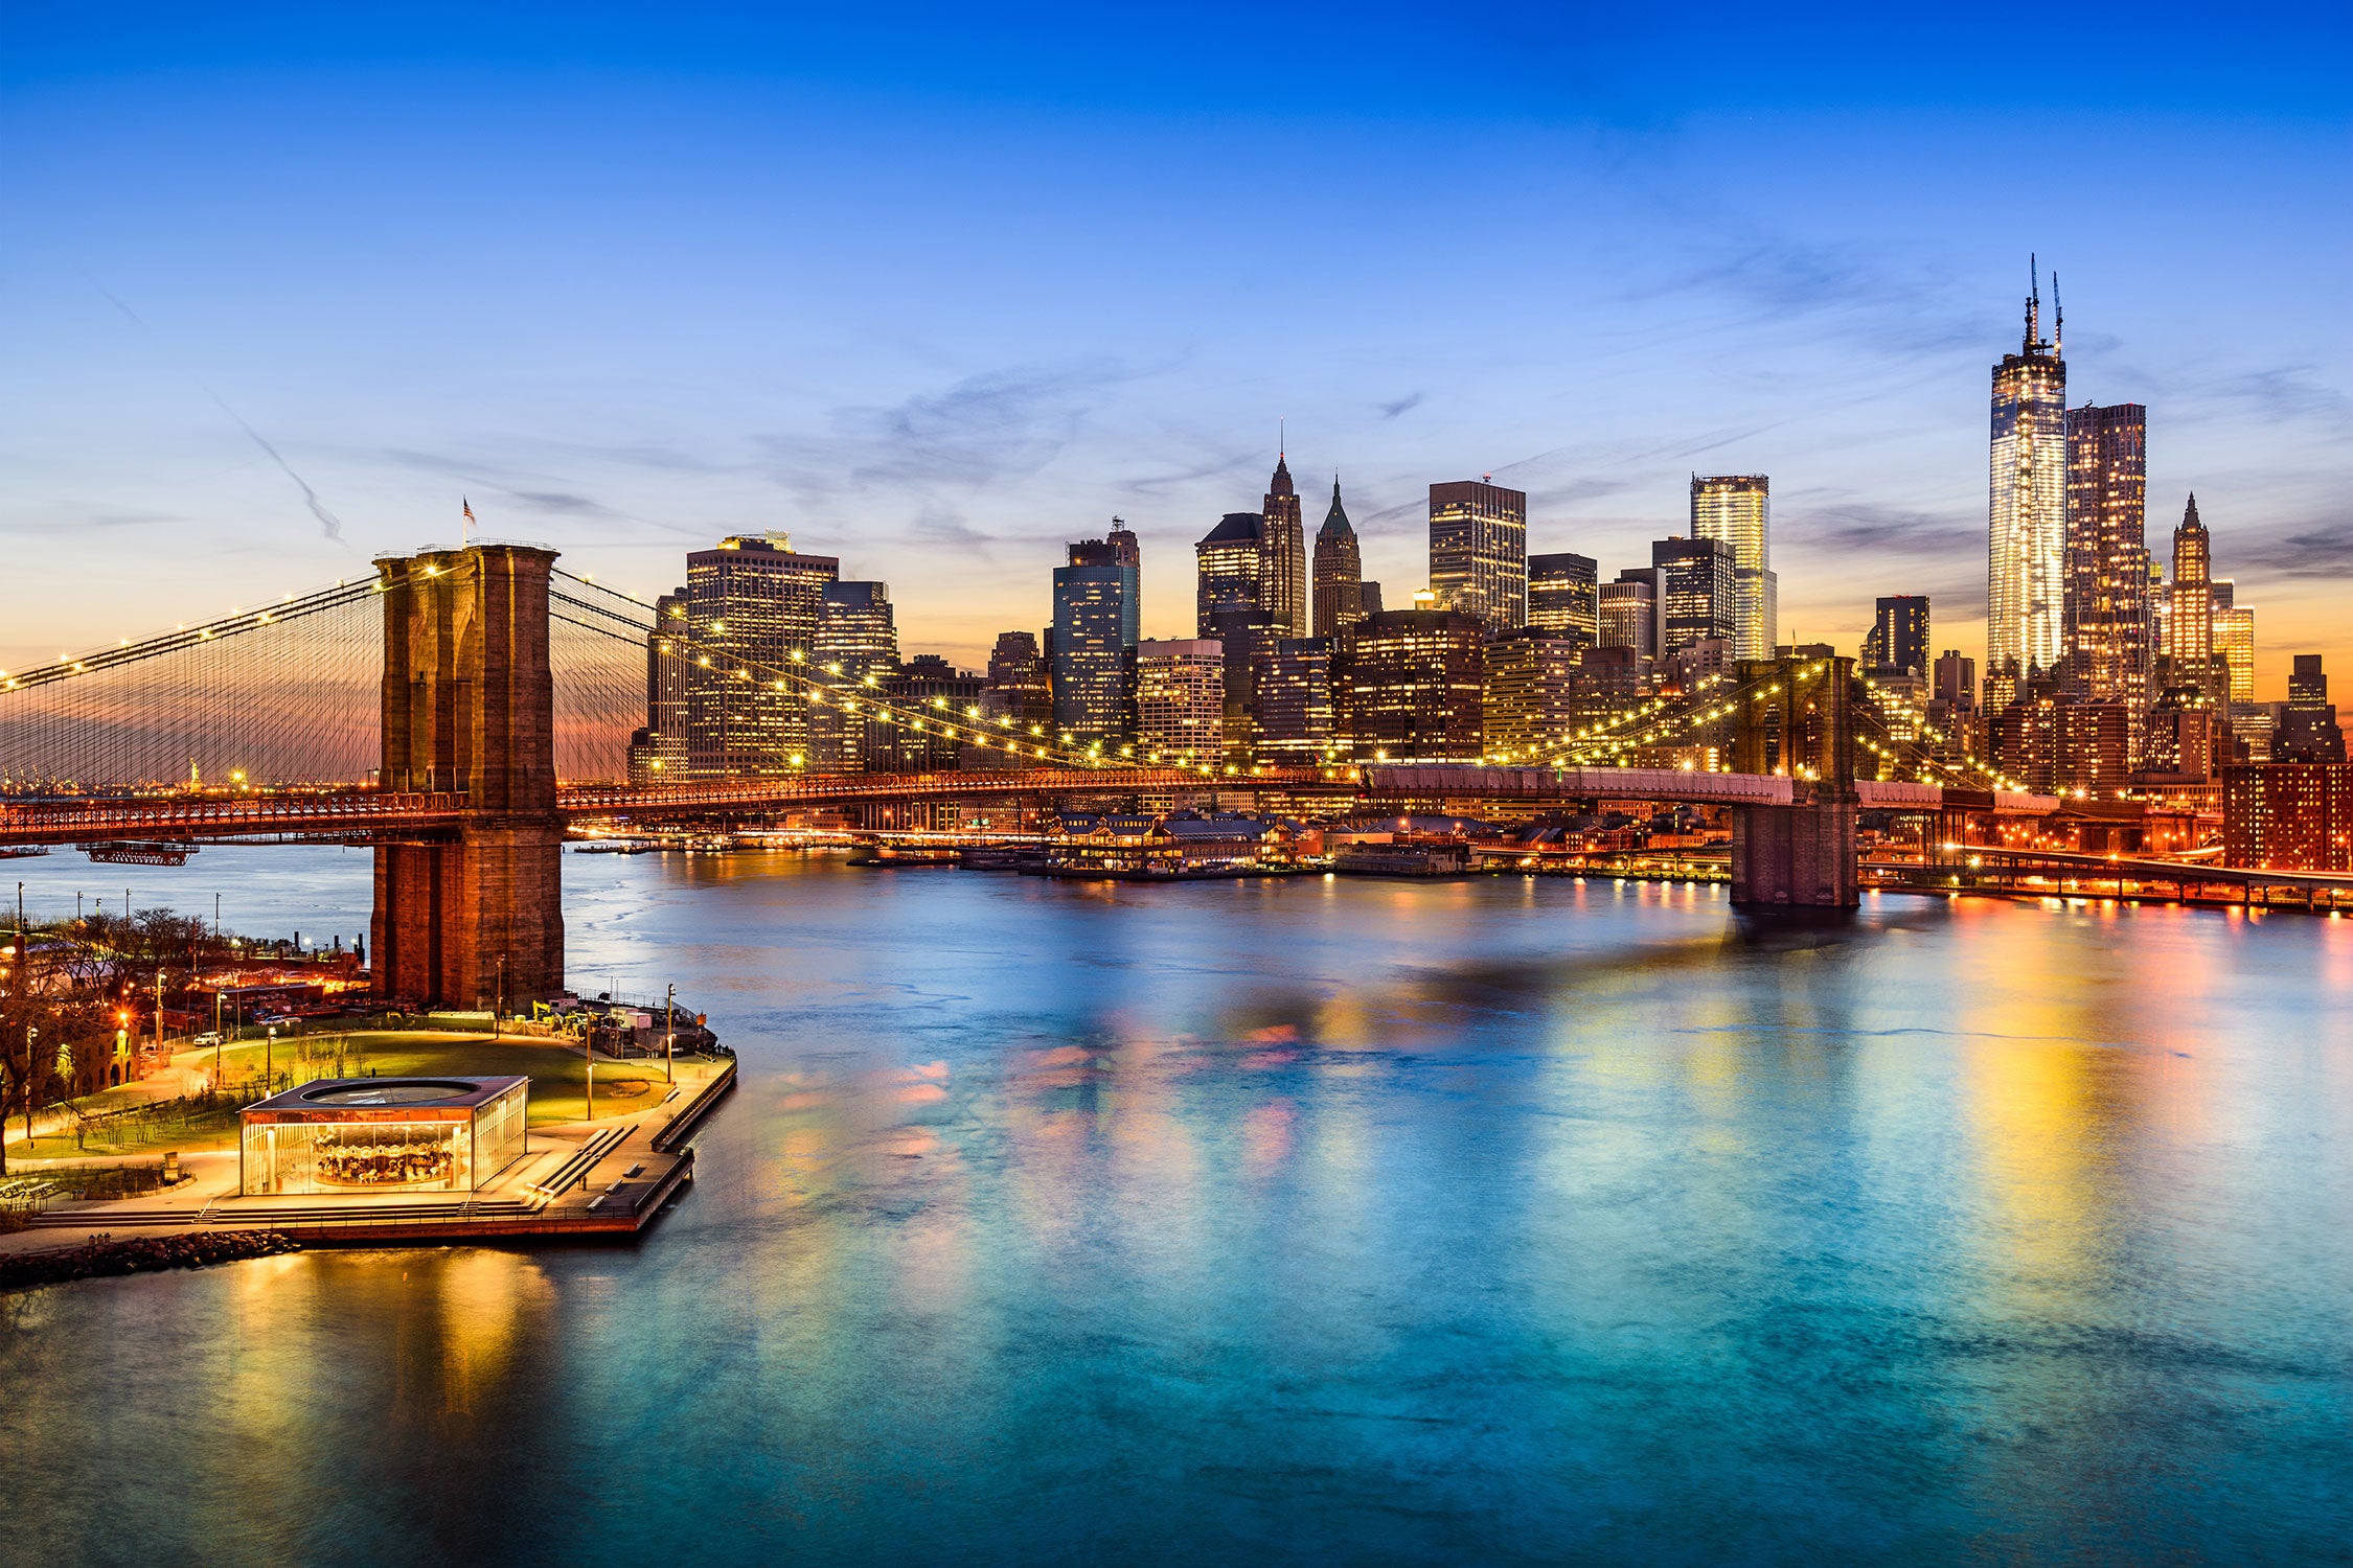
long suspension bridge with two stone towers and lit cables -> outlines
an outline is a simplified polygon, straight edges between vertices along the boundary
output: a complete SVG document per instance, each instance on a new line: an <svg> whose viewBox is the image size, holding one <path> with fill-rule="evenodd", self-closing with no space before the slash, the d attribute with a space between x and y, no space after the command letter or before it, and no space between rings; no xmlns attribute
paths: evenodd
<svg viewBox="0 0 2353 1568"><path fill-rule="evenodd" d="M336 839L374 846L374 983L475 1006L562 990L562 839L581 820L774 820L826 806L1111 802L1214 788L1325 813L1605 799L1729 809L1732 898L1857 903L1857 818L2042 816L1934 755L1849 658L1744 661L1715 684L1562 733L1537 766L1202 769L1106 755L979 708L892 703L802 651L751 663L544 545L384 557L367 578L0 672L0 851L104 842ZM624 783L647 658L955 743L967 766ZM1892 722L1894 719L1894 722ZM1626 766L1718 736L1729 771ZM969 766L972 759L981 766Z"/></svg>

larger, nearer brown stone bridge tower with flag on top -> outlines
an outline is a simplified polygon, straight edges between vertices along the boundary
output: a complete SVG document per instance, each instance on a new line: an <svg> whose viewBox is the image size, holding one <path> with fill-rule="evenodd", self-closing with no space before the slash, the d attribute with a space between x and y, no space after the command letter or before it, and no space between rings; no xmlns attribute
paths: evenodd
<svg viewBox="0 0 2353 1568"><path fill-rule="evenodd" d="M464 797L454 837L376 844L376 994L515 1006L565 985L548 670L553 550L384 557L384 792Z"/></svg>

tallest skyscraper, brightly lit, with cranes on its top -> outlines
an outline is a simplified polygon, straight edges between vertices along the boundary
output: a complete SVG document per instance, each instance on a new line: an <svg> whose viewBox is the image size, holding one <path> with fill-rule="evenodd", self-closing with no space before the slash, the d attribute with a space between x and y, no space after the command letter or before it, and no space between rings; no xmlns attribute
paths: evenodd
<svg viewBox="0 0 2353 1568"><path fill-rule="evenodd" d="M2066 632L2066 360L2042 341L2040 282L2024 348L1993 367L1986 538L1988 677L2007 661L2021 677L2054 668Z"/></svg>

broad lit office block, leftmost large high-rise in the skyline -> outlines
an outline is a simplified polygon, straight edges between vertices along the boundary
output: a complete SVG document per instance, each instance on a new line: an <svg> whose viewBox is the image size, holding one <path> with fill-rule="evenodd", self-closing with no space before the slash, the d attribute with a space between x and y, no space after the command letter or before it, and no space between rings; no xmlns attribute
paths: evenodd
<svg viewBox="0 0 2353 1568"><path fill-rule="evenodd" d="M798 555L784 534L734 534L687 555L687 766L701 778L805 766L809 701L760 670L807 661L816 607L840 578L831 555ZM708 663L704 663L708 658Z"/></svg>

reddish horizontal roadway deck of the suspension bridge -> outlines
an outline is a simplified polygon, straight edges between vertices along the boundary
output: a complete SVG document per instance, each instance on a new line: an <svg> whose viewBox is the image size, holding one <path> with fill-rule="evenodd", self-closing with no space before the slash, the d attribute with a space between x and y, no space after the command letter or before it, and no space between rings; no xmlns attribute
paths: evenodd
<svg viewBox="0 0 2353 1568"><path fill-rule="evenodd" d="M927 799L1052 795L1160 795L1221 790L1322 795L1334 799L1657 799L1704 806L1793 806L1798 783L1762 773L1692 769L1489 769L1471 764L1381 764L1367 769L1261 769L1202 776L1181 769L1007 769L951 773L802 773L680 785L565 785L565 818L694 818L784 806L856 806ZM2049 795L1986 795L1920 783L1859 780L1866 811L1974 809L2047 816ZM256 795L155 795L0 804L0 844L89 844L101 839L238 839L256 835L440 835L471 820L466 795L376 790L278 790Z"/></svg>

